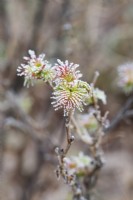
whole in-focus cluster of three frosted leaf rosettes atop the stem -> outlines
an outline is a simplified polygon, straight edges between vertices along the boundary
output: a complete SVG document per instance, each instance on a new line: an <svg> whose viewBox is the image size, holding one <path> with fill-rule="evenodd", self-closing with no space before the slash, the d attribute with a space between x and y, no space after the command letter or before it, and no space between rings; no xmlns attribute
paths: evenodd
<svg viewBox="0 0 133 200"><path fill-rule="evenodd" d="M74 112L77 108L83 111L86 99L91 95L91 87L87 82L80 80L82 74L77 67L78 64L69 63L68 60L62 62L57 60L53 67L47 60L45 54L36 56L32 50L28 51L29 57L24 57L25 63L17 69L18 76L24 76L24 85L29 87L35 80L48 82L53 88L53 106L55 110L64 109L64 116Z"/></svg>

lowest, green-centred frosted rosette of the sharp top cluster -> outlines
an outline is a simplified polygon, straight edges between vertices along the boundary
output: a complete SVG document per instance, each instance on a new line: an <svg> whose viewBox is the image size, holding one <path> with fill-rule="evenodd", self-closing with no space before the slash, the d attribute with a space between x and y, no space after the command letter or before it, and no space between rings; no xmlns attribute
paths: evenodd
<svg viewBox="0 0 133 200"><path fill-rule="evenodd" d="M54 88L52 102L55 110L64 109L64 116L69 112L73 112L77 108L80 112L83 111L83 104L85 102L88 92L86 88L81 87L78 81L73 83L60 84Z"/></svg>

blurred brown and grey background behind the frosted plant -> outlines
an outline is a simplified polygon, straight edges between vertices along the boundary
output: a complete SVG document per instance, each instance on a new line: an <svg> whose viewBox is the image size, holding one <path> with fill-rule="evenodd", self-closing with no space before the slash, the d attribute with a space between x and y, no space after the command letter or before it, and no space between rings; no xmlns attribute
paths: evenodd
<svg viewBox="0 0 133 200"><path fill-rule="evenodd" d="M54 148L64 142L62 111L51 88L23 87L16 69L28 49L80 64L83 79L107 94L112 121L128 98L117 87L117 66L133 60L132 0L0 0L0 196L2 200L69 200L57 181ZM122 120L103 141L106 164L96 199L133 199L133 124ZM73 153L85 145L75 142Z"/></svg>

